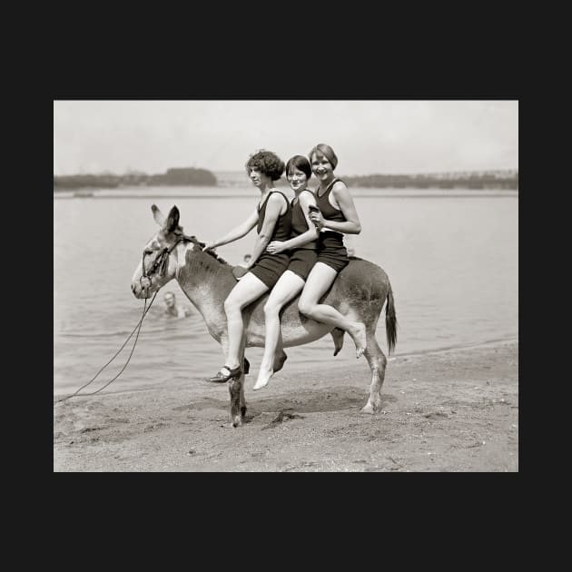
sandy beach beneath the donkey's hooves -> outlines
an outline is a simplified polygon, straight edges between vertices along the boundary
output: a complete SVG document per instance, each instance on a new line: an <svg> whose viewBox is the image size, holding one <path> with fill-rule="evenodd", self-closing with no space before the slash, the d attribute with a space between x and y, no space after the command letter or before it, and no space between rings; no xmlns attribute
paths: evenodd
<svg viewBox="0 0 572 572"><path fill-rule="evenodd" d="M248 352L247 352L248 355ZM518 471L518 343L390 360L382 410L360 414L366 360L279 372L251 390L242 427L226 385L54 399L54 472Z"/></svg>

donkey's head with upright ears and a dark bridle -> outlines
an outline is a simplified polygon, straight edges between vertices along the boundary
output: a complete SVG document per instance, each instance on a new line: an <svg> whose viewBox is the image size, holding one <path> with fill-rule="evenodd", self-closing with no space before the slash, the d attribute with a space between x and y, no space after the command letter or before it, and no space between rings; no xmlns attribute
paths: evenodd
<svg viewBox="0 0 572 572"><path fill-rule="evenodd" d="M184 234L179 226L179 209L173 206L166 217L155 204L151 210L161 228L145 244L142 261L133 274L131 290L135 298L150 298L174 278L179 266L177 246L183 248Z"/></svg>

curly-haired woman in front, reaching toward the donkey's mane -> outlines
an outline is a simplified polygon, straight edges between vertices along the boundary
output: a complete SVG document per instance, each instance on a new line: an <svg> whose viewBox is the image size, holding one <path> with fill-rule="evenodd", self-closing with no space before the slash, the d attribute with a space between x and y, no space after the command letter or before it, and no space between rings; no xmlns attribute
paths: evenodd
<svg viewBox="0 0 572 572"><path fill-rule="evenodd" d="M262 149L251 154L246 173L254 186L261 192L260 201L246 219L222 238L207 243L202 250L214 249L241 239L256 226L258 238L252 250L251 260L246 267L233 269L239 279L224 301L227 319L228 343L224 366L209 381L223 383L242 374L239 354L244 333L242 309L261 295L271 290L286 270L290 261L287 252L271 253L266 247L271 241L286 241L291 233L291 206L286 196L274 187L274 181L281 178L284 163L271 151Z"/></svg>

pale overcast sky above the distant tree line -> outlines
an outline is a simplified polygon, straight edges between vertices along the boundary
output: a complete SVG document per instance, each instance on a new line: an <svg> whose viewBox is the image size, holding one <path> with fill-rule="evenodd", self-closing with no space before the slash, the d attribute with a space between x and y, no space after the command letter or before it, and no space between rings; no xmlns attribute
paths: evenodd
<svg viewBox="0 0 572 572"><path fill-rule="evenodd" d="M316 143L338 174L518 169L518 101L54 101L54 174L241 171Z"/></svg>

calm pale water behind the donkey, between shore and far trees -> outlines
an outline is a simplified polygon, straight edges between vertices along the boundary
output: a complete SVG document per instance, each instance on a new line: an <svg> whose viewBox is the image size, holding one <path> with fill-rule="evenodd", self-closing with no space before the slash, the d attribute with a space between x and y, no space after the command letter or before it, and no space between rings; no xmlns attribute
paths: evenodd
<svg viewBox="0 0 572 572"><path fill-rule="evenodd" d="M287 195L291 192L283 189ZM91 380L119 350L141 317L130 289L143 245L157 230L151 204L176 204L187 234L221 236L254 208L255 189L148 188L95 192L93 198L54 195L54 394ZM396 355L518 338L518 194L516 192L352 189L362 232L349 237L356 255L390 276L399 321ZM121 194L121 196L118 196ZM142 196L143 195L143 196ZM218 249L236 264L252 250L255 232ZM179 302L192 306L176 281ZM194 310L194 309L193 309ZM104 392L201 382L224 357L201 315L162 315L163 291L143 322L133 358ZM380 318L378 340L387 350ZM123 367L133 339L84 391L97 390ZM286 369L353 364L349 337L333 358L330 337L287 350ZM261 349L247 350L255 380Z"/></svg>

